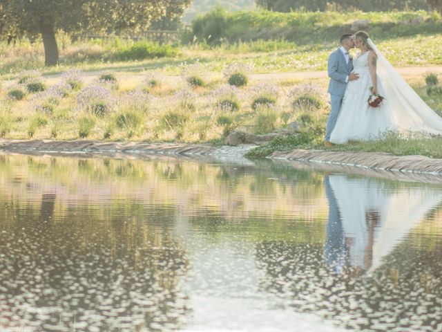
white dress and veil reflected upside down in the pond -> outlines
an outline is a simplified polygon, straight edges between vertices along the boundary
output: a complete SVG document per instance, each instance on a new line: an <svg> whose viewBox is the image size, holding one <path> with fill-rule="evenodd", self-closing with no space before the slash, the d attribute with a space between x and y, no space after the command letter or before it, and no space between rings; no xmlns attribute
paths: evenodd
<svg viewBox="0 0 442 332"><path fill-rule="evenodd" d="M343 224L349 264L369 273L385 263L385 257L442 201L442 190L432 185L388 186L376 178L329 176L330 187ZM369 246L367 212L378 214L372 248ZM367 250L369 249L369 250ZM367 252L372 251L371 259Z"/></svg>

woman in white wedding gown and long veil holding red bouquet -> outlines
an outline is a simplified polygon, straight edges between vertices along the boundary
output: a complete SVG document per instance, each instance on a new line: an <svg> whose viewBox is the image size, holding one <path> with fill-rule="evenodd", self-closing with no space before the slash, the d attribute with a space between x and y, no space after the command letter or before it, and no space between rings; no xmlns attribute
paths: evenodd
<svg viewBox="0 0 442 332"><path fill-rule="evenodd" d="M441 135L442 118L403 80L369 35L359 31L354 42L361 50L353 62L359 80L348 82L330 142L376 140L390 131ZM385 98L378 107L368 104L372 94Z"/></svg>

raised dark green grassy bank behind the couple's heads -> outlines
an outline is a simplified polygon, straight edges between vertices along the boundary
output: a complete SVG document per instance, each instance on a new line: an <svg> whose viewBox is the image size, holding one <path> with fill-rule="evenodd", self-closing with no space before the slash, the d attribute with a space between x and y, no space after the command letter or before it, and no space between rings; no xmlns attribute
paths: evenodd
<svg viewBox="0 0 442 332"><path fill-rule="evenodd" d="M226 12L216 8L192 23L184 42L217 45L257 40L285 40L300 45L335 43L343 33L366 30L385 40L442 33L437 12Z"/></svg>

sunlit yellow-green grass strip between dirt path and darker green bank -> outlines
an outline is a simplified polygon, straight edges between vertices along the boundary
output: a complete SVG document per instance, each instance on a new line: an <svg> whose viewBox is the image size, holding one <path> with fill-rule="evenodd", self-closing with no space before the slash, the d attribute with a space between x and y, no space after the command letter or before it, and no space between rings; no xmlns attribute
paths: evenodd
<svg viewBox="0 0 442 332"><path fill-rule="evenodd" d="M442 35L401 37L376 44L395 66L442 65ZM336 42L297 46L294 42L283 40L237 42L213 47L194 44L177 48L176 55L171 57L120 61L114 55L112 42L76 42L61 49L59 66L45 68L43 47L21 41L15 46L0 44L0 77L3 80L14 78L19 72L29 69L53 74L69 68L82 71L155 70L179 75L184 66L196 62L204 64L209 71L221 71L224 66L238 61L253 66L255 73L322 71L327 66L329 53L337 46Z"/></svg>

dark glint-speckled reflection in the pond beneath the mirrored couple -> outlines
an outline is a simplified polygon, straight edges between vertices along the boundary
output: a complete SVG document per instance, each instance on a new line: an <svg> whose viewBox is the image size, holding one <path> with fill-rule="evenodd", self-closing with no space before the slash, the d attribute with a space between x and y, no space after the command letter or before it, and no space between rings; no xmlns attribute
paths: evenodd
<svg viewBox="0 0 442 332"><path fill-rule="evenodd" d="M358 331L441 329L441 246L422 250L406 243L372 277L356 278L332 273L320 245L262 242L256 256L266 273L261 288L295 311Z"/></svg>

